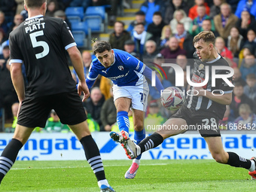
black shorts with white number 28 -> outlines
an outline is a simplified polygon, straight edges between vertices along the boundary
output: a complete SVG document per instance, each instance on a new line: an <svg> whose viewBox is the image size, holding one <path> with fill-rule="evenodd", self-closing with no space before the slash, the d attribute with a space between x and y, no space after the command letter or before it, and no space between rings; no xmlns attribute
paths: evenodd
<svg viewBox="0 0 256 192"><path fill-rule="evenodd" d="M172 115L171 118L181 118L187 122L187 130L198 130L203 137L221 136L218 128L218 116L211 111L187 108L185 105Z"/></svg>

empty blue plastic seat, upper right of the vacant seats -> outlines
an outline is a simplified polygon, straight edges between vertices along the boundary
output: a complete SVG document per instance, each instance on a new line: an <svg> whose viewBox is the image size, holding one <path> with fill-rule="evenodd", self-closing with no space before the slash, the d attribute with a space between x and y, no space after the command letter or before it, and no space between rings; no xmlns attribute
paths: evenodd
<svg viewBox="0 0 256 192"><path fill-rule="evenodd" d="M83 20L87 22L92 32L104 32L108 25L108 14L104 6L92 6L85 11Z"/></svg>

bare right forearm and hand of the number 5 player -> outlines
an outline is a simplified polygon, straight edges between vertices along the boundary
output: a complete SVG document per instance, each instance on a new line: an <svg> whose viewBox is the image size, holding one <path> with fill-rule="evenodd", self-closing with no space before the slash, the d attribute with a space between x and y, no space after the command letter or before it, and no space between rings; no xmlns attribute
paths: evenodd
<svg viewBox="0 0 256 192"><path fill-rule="evenodd" d="M78 74L78 79L79 79L78 94L81 95L82 92L84 93L84 98L83 98L83 102L84 102L84 100L90 96L90 92L84 78L84 66L83 66L82 56L76 46L70 47L67 51L69 53L72 64L74 66L75 72Z"/></svg>

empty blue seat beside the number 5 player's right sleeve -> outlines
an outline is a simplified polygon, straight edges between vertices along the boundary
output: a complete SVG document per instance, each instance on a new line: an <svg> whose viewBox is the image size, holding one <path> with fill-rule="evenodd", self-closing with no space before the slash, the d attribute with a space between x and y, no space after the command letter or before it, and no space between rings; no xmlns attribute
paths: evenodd
<svg viewBox="0 0 256 192"><path fill-rule="evenodd" d="M78 47L90 48L91 32L86 22L72 23L72 34Z"/></svg>

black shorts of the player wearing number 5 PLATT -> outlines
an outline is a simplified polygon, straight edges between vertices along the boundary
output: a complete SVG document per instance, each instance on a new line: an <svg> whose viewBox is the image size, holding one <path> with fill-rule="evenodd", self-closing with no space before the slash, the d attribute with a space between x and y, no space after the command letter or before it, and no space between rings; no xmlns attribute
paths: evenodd
<svg viewBox="0 0 256 192"><path fill-rule="evenodd" d="M24 99L17 124L31 128L44 127L52 109L63 124L75 125L87 120L80 96L72 92Z"/></svg>

